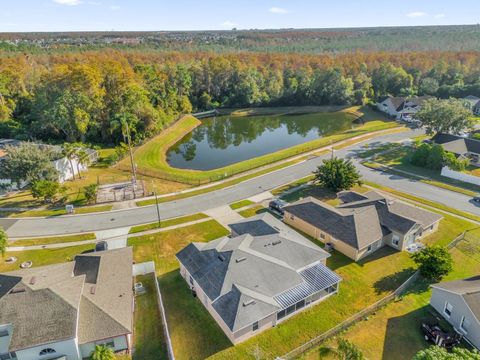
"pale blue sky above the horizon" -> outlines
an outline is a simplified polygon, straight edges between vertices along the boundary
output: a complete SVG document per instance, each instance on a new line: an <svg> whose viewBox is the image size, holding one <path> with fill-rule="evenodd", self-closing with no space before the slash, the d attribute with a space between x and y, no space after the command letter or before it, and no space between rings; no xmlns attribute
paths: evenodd
<svg viewBox="0 0 480 360"><path fill-rule="evenodd" d="M0 0L2 32L476 23L480 0Z"/></svg>

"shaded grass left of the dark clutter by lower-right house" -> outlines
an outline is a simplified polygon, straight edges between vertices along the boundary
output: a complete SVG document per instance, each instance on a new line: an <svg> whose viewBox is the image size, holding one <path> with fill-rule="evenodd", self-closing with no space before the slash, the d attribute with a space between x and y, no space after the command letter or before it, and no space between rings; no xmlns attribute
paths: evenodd
<svg viewBox="0 0 480 360"><path fill-rule="evenodd" d="M390 318L387 321L382 359L411 359L419 350L428 347L421 325L429 316L430 306L426 305L403 316Z"/></svg>

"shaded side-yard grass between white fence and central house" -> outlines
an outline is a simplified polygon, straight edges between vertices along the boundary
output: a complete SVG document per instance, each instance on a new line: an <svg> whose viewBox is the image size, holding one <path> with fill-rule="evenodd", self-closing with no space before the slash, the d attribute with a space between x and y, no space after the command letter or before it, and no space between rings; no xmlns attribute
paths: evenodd
<svg viewBox="0 0 480 360"><path fill-rule="evenodd" d="M178 270L159 276L175 356L205 359L232 343L192 292Z"/></svg>

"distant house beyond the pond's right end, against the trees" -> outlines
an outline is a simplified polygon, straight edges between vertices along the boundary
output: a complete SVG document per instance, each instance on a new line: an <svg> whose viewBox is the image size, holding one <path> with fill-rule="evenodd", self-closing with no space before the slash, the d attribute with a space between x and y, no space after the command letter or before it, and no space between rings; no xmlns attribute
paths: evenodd
<svg viewBox="0 0 480 360"><path fill-rule="evenodd" d="M415 114L420 110L423 102L428 99L433 99L433 96L413 98L386 96L377 102L377 109L397 120L410 121L414 119Z"/></svg>

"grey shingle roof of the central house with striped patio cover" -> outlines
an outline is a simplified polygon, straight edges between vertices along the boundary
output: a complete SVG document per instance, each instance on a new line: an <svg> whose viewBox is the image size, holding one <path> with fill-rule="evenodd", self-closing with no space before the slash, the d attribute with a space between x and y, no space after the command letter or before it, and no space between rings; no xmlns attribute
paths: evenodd
<svg viewBox="0 0 480 360"><path fill-rule="evenodd" d="M224 323L235 332L282 309L284 303L276 296L306 284L301 272L330 255L271 214L230 226L250 229L253 234L267 227L276 231L192 243L177 253L177 259L212 301L212 307ZM318 281L318 286L328 287L340 281L325 266L318 276L326 279ZM318 286L306 286L304 294L322 290L318 290Z"/></svg>

